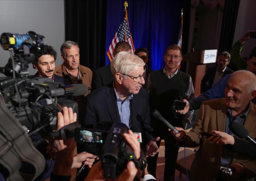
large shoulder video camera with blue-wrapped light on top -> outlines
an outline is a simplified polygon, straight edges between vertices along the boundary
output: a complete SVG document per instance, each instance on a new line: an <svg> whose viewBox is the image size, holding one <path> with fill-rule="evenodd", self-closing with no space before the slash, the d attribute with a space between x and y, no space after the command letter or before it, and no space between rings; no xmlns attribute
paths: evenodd
<svg viewBox="0 0 256 181"><path fill-rule="evenodd" d="M3 95L8 109L29 135L42 130L52 137L60 135L65 139L73 136L73 132L68 131L70 127L74 129L79 123L77 121L62 128L60 132L56 131L57 112L62 107L72 107L73 112L78 113L77 103L63 97L83 95L88 88L83 84L65 86L42 77L27 78L28 64L35 58L33 53L44 45L43 38L45 37L33 31L25 35L2 33L1 47L9 50L11 57L6 66L0 68L1 73L9 76L0 80L0 94ZM43 97L52 100L53 104L38 104L37 101Z"/></svg>

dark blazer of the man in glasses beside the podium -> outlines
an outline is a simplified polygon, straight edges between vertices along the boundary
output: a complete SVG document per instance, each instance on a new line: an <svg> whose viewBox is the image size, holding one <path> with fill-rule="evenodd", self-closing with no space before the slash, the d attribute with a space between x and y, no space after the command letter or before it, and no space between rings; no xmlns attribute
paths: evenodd
<svg viewBox="0 0 256 181"><path fill-rule="evenodd" d="M217 70L217 67L210 67L206 70L206 73L201 81L201 94L211 89L216 70ZM226 67L222 78L225 77L227 74L232 74L233 72L234 72L233 70Z"/></svg>

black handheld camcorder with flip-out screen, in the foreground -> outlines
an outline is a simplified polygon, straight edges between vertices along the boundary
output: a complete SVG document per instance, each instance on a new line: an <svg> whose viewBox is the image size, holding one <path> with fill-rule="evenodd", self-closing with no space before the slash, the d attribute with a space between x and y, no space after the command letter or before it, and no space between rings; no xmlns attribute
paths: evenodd
<svg viewBox="0 0 256 181"><path fill-rule="evenodd" d="M100 159L104 170L104 178L115 179L127 167L127 162L133 161L135 166L143 171L146 167L146 158L141 151L140 159L123 137L129 128L124 123L115 123L109 131L76 128L74 137L77 143L103 144Z"/></svg>

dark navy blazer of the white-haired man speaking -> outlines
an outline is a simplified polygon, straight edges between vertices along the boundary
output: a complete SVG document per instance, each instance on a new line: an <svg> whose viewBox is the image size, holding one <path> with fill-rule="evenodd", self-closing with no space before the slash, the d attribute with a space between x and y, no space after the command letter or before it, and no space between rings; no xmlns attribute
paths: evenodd
<svg viewBox="0 0 256 181"><path fill-rule="evenodd" d="M138 94L133 94L130 103L132 126L140 128L142 142L145 145L153 139L147 90L141 88ZM103 86L86 96L84 119L80 120L82 127L94 127L99 121L121 122L112 82L108 86Z"/></svg>

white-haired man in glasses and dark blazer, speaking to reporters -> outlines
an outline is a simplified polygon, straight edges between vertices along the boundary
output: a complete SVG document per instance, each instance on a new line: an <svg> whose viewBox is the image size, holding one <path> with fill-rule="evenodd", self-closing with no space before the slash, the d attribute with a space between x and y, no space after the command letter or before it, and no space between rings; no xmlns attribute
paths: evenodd
<svg viewBox="0 0 256 181"><path fill-rule="evenodd" d="M82 126L88 127L99 121L124 123L128 128L139 127L147 156L154 156L159 148L153 138L150 125L148 93L141 86L145 63L138 56L118 53L111 62L114 81L91 92L85 102Z"/></svg>

